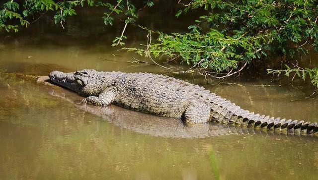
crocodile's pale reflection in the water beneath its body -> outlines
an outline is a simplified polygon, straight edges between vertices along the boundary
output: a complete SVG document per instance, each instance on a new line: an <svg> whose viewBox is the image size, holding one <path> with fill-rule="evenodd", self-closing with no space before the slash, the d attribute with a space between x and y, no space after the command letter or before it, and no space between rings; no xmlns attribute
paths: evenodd
<svg viewBox="0 0 318 180"><path fill-rule="evenodd" d="M61 98L68 103L74 105L83 112L100 117L102 120L125 129L129 129L138 133L149 134L159 137L172 138L205 138L214 136L226 135L244 135L244 136L265 136L277 137L279 139L293 139L301 138L312 142L317 137L317 134L301 134L288 131L263 131L254 128L232 127L228 124L220 123L197 123L192 126L187 126L183 123L181 118L165 118L160 116L152 116L151 114L140 113L137 111L130 111L129 109L121 108L119 106L93 106L86 103L78 103L80 96L73 94L70 91L56 88L47 76L40 76L37 82L51 86L54 88L46 88L46 91L55 97ZM90 118L83 116L83 119L90 121Z"/></svg>

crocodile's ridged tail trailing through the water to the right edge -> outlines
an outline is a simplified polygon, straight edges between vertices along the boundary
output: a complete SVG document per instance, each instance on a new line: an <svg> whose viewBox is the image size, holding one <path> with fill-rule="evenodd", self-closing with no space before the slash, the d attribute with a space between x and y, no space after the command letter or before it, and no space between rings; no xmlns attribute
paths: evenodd
<svg viewBox="0 0 318 180"><path fill-rule="evenodd" d="M248 127L263 130L288 131L295 133L318 134L318 123L304 120L286 120L254 114L239 106L219 99L211 103L211 121L236 127Z"/></svg>

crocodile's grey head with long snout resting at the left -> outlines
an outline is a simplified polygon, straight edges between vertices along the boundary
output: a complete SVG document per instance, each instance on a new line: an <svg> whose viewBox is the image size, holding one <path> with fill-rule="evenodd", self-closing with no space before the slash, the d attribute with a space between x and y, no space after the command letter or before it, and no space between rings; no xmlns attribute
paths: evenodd
<svg viewBox="0 0 318 180"><path fill-rule="evenodd" d="M93 69L84 69L76 72L52 71L49 78L52 82L64 86L83 96L96 96L104 87L108 86L107 81L101 80L100 74Z"/></svg>

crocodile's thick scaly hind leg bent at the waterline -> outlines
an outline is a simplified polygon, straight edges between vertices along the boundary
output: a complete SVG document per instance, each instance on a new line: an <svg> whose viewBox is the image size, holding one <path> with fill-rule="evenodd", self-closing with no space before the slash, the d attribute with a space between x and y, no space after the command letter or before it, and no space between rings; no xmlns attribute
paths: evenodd
<svg viewBox="0 0 318 180"><path fill-rule="evenodd" d="M187 125L207 122L210 118L210 107L203 102L190 101L183 113L183 118Z"/></svg>

